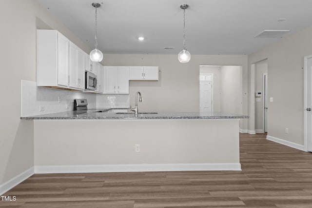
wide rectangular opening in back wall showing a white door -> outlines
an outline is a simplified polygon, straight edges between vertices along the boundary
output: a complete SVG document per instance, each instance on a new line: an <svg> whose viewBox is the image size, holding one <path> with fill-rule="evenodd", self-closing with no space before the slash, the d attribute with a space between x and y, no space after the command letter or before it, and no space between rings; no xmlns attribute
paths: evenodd
<svg viewBox="0 0 312 208"><path fill-rule="evenodd" d="M242 66L199 66L200 112L242 114L242 94Z"/></svg>

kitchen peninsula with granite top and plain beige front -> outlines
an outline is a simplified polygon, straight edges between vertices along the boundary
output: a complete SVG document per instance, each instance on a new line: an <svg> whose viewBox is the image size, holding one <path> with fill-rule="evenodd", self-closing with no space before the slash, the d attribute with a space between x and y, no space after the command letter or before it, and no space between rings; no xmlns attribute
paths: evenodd
<svg viewBox="0 0 312 208"><path fill-rule="evenodd" d="M21 117L34 122L36 173L240 170L243 118L91 109Z"/></svg>

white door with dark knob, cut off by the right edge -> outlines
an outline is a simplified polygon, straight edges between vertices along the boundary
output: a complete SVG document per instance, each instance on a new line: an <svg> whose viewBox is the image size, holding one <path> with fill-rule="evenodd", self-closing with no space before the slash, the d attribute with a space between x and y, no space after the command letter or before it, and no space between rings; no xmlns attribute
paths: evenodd
<svg viewBox="0 0 312 208"><path fill-rule="evenodd" d="M304 128L305 150L312 152L312 56L305 57L305 80L304 80Z"/></svg>

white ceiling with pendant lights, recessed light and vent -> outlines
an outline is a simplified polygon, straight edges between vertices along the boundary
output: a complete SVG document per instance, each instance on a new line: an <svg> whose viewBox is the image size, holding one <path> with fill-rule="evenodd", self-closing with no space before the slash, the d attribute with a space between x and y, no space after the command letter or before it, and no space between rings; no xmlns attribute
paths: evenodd
<svg viewBox="0 0 312 208"><path fill-rule="evenodd" d="M95 44L94 0L37 0L90 48ZM98 0L98 48L105 54L251 54L277 42L254 38L263 30L312 25L312 0ZM278 21L286 19L286 21ZM144 41L138 41L144 36ZM164 49L164 47L174 49Z"/></svg>

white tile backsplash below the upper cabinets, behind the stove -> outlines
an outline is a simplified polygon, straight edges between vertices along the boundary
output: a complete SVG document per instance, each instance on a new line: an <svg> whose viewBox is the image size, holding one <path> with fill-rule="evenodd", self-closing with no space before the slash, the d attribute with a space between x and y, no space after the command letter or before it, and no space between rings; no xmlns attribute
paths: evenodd
<svg viewBox="0 0 312 208"><path fill-rule="evenodd" d="M95 94L51 87L21 80L21 117L74 109L74 99L87 99L88 108L129 107L129 95Z"/></svg>

